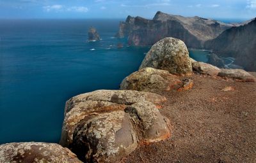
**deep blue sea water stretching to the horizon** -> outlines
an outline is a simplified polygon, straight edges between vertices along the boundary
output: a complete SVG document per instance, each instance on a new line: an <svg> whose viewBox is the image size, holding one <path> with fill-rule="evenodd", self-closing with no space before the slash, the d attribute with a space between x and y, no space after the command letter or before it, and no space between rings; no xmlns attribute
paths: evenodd
<svg viewBox="0 0 256 163"><path fill-rule="evenodd" d="M0 20L0 144L58 143L65 101L118 89L138 70L150 46L127 46L126 39L114 38L119 21ZM90 26L101 41L87 41ZM190 50L203 62L208 53Z"/></svg>

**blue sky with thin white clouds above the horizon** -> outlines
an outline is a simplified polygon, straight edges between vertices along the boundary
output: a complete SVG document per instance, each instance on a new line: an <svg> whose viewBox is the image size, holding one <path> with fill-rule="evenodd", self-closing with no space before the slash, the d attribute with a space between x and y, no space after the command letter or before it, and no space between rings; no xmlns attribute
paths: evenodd
<svg viewBox="0 0 256 163"><path fill-rule="evenodd" d="M256 0L0 0L0 18L256 17Z"/></svg>

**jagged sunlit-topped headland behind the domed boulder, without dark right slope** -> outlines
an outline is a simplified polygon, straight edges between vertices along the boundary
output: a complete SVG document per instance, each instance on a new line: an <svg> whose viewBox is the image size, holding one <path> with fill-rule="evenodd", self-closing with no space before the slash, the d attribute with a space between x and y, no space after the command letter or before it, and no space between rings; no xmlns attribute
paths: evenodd
<svg viewBox="0 0 256 163"><path fill-rule="evenodd" d="M117 37L128 37L130 45L153 45L166 37L178 38L189 48L202 48L202 43L216 38L232 27L216 20L200 17L182 17L157 11L153 20L128 16L120 22Z"/></svg>

